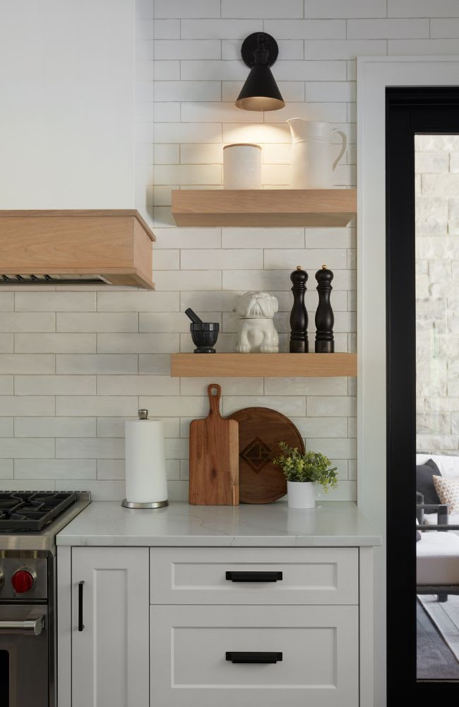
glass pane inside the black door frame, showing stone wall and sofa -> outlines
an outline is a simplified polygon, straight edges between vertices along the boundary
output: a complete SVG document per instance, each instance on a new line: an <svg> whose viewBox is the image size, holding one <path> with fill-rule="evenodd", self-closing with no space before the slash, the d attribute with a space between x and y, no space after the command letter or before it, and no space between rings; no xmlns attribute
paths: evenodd
<svg viewBox="0 0 459 707"><path fill-rule="evenodd" d="M415 135L418 680L459 680L459 135Z"/></svg>

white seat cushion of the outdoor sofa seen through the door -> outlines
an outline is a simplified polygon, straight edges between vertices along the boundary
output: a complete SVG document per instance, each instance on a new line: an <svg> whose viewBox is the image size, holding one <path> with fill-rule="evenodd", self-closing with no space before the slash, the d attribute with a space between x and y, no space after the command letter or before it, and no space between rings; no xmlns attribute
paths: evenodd
<svg viewBox="0 0 459 707"><path fill-rule="evenodd" d="M416 568L418 585L459 585L459 536L423 532L416 543Z"/></svg>

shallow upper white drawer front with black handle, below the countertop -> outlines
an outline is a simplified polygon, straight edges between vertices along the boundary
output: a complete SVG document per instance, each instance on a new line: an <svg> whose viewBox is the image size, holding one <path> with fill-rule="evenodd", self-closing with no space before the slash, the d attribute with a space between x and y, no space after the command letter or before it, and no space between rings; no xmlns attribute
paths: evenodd
<svg viewBox="0 0 459 707"><path fill-rule="evenodd" d="M358 549L150 549L152 604L357 604Z"/></svg>

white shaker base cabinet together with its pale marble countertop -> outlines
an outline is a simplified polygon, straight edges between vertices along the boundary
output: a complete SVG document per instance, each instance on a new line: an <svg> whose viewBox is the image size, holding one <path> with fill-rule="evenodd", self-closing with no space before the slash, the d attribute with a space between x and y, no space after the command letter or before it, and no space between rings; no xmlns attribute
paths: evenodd
<svg viewBox="0 0 459 707"><path fill-rule="evenodd" d="M354 504L91 503L57 537L58 707L374 707L380 543Z"/></svg>

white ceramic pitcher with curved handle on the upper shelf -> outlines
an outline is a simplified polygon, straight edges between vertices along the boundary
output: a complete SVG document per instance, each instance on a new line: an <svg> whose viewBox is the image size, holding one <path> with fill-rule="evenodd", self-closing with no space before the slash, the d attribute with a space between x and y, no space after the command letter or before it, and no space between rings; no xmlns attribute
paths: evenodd
<svg viewBox="0 0 459 707"><path fill-rule="evenodd" d="M347 136L338 128L318 120L290 118L292 132L292 189L332 189L333 172L347 148ZM333 162L331 137L342 138L340 154Z"/></svg>

